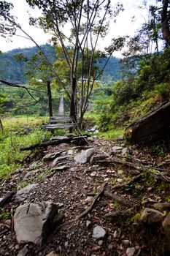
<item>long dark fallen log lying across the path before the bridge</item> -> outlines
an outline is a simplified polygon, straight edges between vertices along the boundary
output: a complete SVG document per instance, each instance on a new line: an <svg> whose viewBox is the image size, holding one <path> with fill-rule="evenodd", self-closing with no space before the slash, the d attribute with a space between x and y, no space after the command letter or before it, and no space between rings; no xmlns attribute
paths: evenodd
<svg viewBox="0 0 170 256"><path fill-rule="evenodd" d="M36 143L36 144L28 146L26 148L20 148L20 150L21 151L26 151L26 150L33 150L35 148L47 148L47 146L59 145L61 143L71 143L72 140L82 140L82 139L85 139L85 138L87 138L87 135L63 138L63 139L59 139L59 140L52 140L52 141L47 141L47 142L43 142L43 143Z"/></svg>

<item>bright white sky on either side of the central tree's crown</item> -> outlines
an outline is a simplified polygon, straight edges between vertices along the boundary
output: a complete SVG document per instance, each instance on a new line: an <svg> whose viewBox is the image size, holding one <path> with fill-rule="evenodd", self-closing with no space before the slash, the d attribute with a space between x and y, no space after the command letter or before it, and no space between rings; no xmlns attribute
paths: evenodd
<svg viewBox="0 0 170 256"><path fill-rule="evenodd" d="M45 34L42 30L36 29L33 26L28 25L28 12L33 16L39 15L39 10L32 10L28 7L26 1L23 0L6 0L12 2L14 9L12 14L18 18L18 23L21 24L22 28L28 32L39 44L45 44L50 39L49 34ZM111 0L112 4L116 3L115 0ZM143 0L120 0L125 8L124 12L121 12L117 16L117 22L114 23L113 20L110 22L109 34L103 41L99 41L98 48L107 46L107 43L112 39L112 37L131 35L133 36L136 29L139 28L141 23L144 23L144 17L147 17L147 10L139 10L139 6L142 5ZM148 4L154 3L154 0L147 0ZM131 17L136 16L135 21L131 23ZM12 37L12 39L4 39L0 37L0 50L6 52L15 48L27 48L32 47L34 44L28 40L20 37L22 34L20 32L18 35ZM101 49L102 50L102 49ZM120 56L120 53L115 53L115 56Z"/></svg>

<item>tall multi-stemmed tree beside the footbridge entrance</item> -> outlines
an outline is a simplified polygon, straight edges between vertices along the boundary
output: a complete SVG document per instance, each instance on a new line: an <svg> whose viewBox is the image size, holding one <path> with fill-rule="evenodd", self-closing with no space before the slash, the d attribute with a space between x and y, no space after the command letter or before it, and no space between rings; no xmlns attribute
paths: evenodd
<svg viewBox="0 0 170 256"><path fill-rule="evenodd" d="M88 100L95 81L102 72L102 70L98 72L97 69L94 69L98 39L106 36L109 29L109 18L117 16L120 10L123 10L123 6L117 4L115 10L112 10L110 0L26 1L31 7L36 6L42 10L42 17L38 20L31 18L31 23L34 24L38 21L44 31L53 34L53 42L62 48L70 76L70 116L76 120L78 112L81 123L88 108ZM115 41L107 49L108 56L112 55L113 50L115 50ZM106 59L104 67L108 59ZM81 75L78 75L80 70ZM66 89L66 80L62 77L62 73L57 73L56 79L63 89ZM77 110L78 83L81 94L80 108Z"/></svg>

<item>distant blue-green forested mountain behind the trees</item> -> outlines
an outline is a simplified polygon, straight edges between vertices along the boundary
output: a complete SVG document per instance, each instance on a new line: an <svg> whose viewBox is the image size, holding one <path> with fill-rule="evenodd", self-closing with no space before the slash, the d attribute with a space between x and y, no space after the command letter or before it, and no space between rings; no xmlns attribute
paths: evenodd
<svg viewBox="0 0 170 256"><path fill-rule="evenodd" d="M55 61L56 53L55 48L51 45L41 45L42 50L49 57L50 61ZM26 56L28 59L34 54L37 53L37 48L18 48L14 50L9 50L7 53L0 55L0 79L9 80L12 83L26 83L26 63L24 61L16 61L15 55L23 53L23 56ZM100 66L101 64L98 63ZM120 64L119 59L111 57L107 64L107 67L104 69L104 73L101 77L101 80L105 82L116 81L120 78Z"/></svg>

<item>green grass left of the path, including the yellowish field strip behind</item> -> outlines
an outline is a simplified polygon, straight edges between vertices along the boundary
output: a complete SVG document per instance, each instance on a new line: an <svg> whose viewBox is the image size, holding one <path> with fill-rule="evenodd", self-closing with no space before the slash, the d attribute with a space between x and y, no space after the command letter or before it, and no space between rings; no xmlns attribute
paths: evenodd
<svg viewBox="0 0 170 256"><path fill-rule="evenodd" d="M39 126L38 126L39 124ZM20 162L30 154L30 151L20 151L20 148L42 140L48 140L51 133L42 129L42 119L32 118L26 123L26 118L3 119L4 133L0 131L0 179L7 178L20 167ZM25 128L28 132L25 132Z"/></svg>

